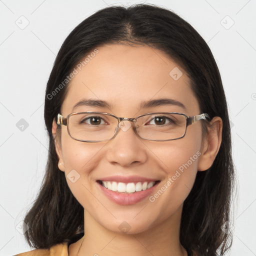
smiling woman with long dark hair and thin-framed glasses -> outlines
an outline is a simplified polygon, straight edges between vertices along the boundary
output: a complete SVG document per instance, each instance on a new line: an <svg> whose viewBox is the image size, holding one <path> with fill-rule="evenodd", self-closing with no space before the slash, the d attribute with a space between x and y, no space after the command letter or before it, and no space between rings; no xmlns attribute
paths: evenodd
<svg viewBox="0 0 256 256"><path fill-rule="evenodd" d="M35 249L19 256L228 250L226 99L209 47L182 18L137 4L83 20L58 52L44 117L46 173L24 218Z"/></svg>

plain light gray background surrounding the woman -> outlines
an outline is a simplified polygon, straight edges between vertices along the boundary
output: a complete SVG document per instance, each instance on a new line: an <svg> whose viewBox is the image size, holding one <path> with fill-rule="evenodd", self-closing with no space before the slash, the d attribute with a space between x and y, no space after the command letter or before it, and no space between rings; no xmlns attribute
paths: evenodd
<svg viewBox="0 0 256 256"><path fill-rule="evenodd" d="M96 10L138 2L0 0L0 255L30 250L20 221L45 169L44 90L63 40ZM229 255L256 255L256 1L144 2L165 6L188 21L216 59L228 102L238 184Z"/></svg>

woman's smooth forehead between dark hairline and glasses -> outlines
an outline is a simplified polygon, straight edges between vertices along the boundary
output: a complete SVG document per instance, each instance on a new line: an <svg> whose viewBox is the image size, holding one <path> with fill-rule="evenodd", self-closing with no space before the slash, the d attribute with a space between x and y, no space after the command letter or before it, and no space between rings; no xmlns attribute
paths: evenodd
<svg viewBox="0 0 256 256"><path fill-rule="evenodd" d="M171 98L182 102L191 109L189 112L198 111L185 70L162 51L149 46L106 44L97 47L95 52L88 53L86 60L85 56L77 63L77 72L68 84L61 106L63 114L70 113L75 103L83 98L111 104L111 109L81 106L83 111L105 109L115 114L132 114L140 110L142 101L157 98ZM168 109L181 111L182 108Z"/></svg>

